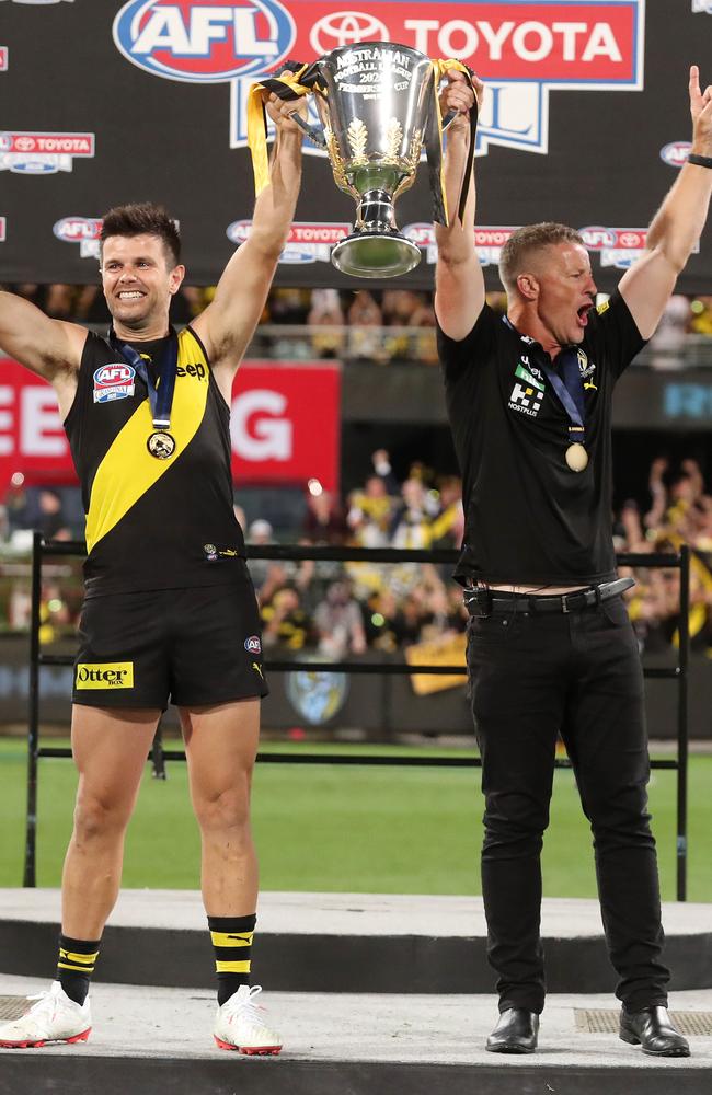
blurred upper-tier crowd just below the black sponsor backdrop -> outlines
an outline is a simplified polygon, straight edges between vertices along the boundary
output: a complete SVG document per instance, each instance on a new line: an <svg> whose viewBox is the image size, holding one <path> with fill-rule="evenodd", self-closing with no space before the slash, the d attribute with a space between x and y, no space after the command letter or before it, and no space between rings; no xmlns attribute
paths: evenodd
<svg viewBox="0 0 712 1095"><path fill-rule="evenodd" d="M56 319L96 325L110 321L99 285L1 288L26 297ZM190 323L214 292L214 287L182 286L173 299L173 322L179 326ZM496 311L506 308L502 292L489 293L487 300ZM300 338L295 327L303 328L305 336ZM662 369L681 367L689 335L712 338L712 297L677 295L670 299L651 339L648 364ZM255 338L259 356L343 358L374 365L437 362L433 295L412 289L273 288Z"/></svg>

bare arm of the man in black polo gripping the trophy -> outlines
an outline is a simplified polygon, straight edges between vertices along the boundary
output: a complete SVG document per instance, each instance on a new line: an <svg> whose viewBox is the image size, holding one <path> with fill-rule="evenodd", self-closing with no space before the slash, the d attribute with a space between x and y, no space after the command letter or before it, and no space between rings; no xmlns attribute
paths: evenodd
<svg viewBox="0 0 712 1095"><path fill-rule="evenodd" d="M470 147L468 111L472 105L472 90L462 72L450 70L447 77L449 82L440 101L446 110L456 110L459 115L447 129L444 165L450 223L447 228L444 224L435 226L438 251L435 267L435 314L445 334L459 341L470 333L482 311L484 277L474 247L474 168L462 221L457 216ZM472 83L481 102L482 81L473 77Z"/></svg>

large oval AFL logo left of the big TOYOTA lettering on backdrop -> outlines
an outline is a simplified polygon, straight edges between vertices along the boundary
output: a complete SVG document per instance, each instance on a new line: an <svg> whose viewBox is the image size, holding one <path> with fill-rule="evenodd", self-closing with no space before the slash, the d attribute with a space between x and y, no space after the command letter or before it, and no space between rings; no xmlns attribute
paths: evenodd
<svg viewBox="0 0 712 1095"><path fill-rule="evenodd" d="M294 20L278 0L129 0L114 20L114 43L127 60L190 83L272 69L295 37Z"/></svg>

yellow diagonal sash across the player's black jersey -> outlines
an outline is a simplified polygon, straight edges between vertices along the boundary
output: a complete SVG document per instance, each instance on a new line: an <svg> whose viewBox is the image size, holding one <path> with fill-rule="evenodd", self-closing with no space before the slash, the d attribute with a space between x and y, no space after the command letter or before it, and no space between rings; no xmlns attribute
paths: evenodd
<svg viewBox="0 0 712 1095"><path fill-rule="evenodd" d="M195 346L188 349L186 335ZM87 514L87 550L91 553L99 541L118 525L147 491L158 483L187 448L198 430L208 397L210 370L203 349L186 327L179 334L179 365L195 357L205 365L205 377L176 377L171 407L171 435L175 449L168 460L157 460L146 448L154 433L148 399L137 407L96 469Z"/></svg>

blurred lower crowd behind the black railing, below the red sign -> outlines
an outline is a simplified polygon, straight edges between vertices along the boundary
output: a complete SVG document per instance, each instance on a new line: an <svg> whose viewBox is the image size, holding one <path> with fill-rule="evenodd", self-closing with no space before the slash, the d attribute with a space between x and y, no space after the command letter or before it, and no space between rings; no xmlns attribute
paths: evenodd
<svg viewBox="0 0 712 1095"><path fill-rule="evenodd" d="M460 480L414 464L399 482L384 449L371 460L370 474L345 499L312 483L300 527L280 530L279 539L333 548L457 549L464 522ZM615 516L616 549L652 554L690 545L691 644L712 657L712 495L699 464L691 459L676 465L654 460L647 496L647 504L625 502ZM277 542L267 520L249 522L239 505L236 514L254 550ZM12 578L20 575L12 566L18 552L28 550L32 529L51 539L81 539L78 489L14 486L8 492L0 507L5 627L28 624L27 583ZM267 650L303 650L342 660L367 650L393 654L411 644L445 641L467 627L461 590L449 564L251 558L249 566ZM621 573L629 572L623 567ZM638 566L632 573L636 585L628 595L629 609L641 650L670 652L678 642L680 570ZM43 639L51 642L71 634L78 622L79 561L62 561L61 566L47 567L47 574Z"/></svg>

